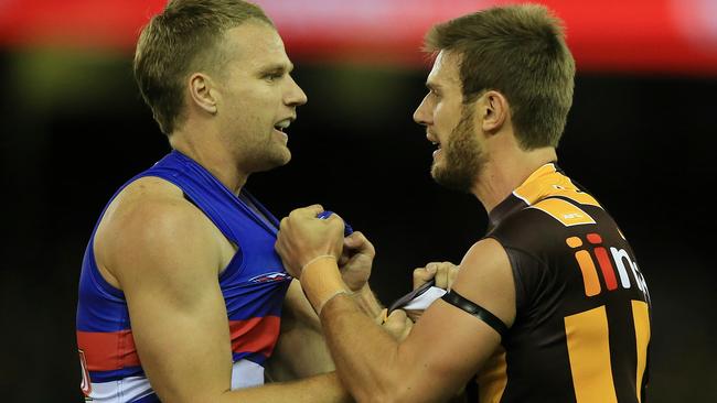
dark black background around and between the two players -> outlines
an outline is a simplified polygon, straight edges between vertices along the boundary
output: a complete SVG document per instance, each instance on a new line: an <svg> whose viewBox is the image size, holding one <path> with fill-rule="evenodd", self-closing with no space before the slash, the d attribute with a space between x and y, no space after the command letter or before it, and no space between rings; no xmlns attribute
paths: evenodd
<svg viewBox="0 0 717 403"><path fill-rule="evenodd" d="M169 151L129 54L1 51L0 400L78 402L74 315L84 249L105 203ZM277 216L321 203L377 248L384 302L429 261L459 262L485 230L472 196L429 176L411 119L427 69L296 61L309 96L291 163L250 177ZM559 164L616 217L653 302L652 402L717 401L715 77L579 74Z"/></svg>

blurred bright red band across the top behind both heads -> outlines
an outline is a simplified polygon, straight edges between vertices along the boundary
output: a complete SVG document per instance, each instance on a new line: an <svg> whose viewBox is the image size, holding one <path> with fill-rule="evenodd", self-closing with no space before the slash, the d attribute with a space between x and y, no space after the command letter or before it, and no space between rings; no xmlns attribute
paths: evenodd
<svg viewBox="0 0 717 403"><path fill-rule="evenodd" d="M257 0L291 57L421 63L428 28L506 0ZM0 1L0 45L73 45L130 52L164 0ZM580 70L717 74L717 2L544 0L565 20Z"/></svg>

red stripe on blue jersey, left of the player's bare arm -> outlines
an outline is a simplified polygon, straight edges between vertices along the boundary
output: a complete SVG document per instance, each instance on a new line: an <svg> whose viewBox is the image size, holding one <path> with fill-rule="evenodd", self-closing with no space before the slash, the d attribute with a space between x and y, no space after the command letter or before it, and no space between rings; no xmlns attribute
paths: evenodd
<svg viewBox="0 0 717 403"><path fill-rule="evenodd" d="M89 371L138 367L139 356L131 330L111 333L77 330L77 347L85 352Z"/></svg>

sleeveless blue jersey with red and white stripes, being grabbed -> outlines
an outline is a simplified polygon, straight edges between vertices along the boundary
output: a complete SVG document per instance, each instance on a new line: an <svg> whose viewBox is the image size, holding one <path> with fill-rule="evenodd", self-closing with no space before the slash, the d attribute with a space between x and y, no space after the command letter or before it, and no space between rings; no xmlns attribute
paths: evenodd
<svg viewBox="0 0 717 403"><path fill-rule="evenodd" d="M178 151L130 179L110 203L128 184L146 176L160 177L180 187L239 247L218 279L232 336L232 389L264 383L263 364L276 345L281 306L291 280L274 250L277 219L243 192L242 196L270 220L266 222L208 171ZM159 402L135 348L125 296L97 269L93 252L97 225L79 277L77 346L83 392L95 402Z"/></svg>

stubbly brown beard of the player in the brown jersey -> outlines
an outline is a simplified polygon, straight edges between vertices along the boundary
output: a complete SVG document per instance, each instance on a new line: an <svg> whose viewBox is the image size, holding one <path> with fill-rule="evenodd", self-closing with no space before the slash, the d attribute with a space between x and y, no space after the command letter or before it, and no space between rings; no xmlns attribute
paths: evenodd
<svg viewBox="0 0 717 403"><path fill-rule="evenodd" d="M434 161L431 166L436 183L458 192L472 192L488 160L475 135L473 108L463 106L461 120L451 131L448 142L441 146L443 164Z"/></svg>

